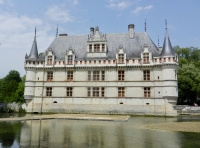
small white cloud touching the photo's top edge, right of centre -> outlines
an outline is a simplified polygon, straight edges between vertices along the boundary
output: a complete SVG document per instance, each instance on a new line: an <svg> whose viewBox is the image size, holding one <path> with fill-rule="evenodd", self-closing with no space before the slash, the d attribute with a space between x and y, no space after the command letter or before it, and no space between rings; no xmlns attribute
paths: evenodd
<svg viewBox="0 0 200 148"><path fill-rule="evenodd" d="M129 1L117 1L117 0L109 0L109 4L106 7L115 8L115 9L125 9L131 5Z"/></svg>

